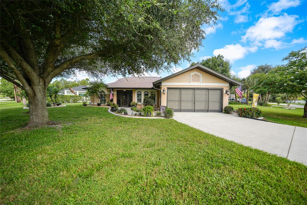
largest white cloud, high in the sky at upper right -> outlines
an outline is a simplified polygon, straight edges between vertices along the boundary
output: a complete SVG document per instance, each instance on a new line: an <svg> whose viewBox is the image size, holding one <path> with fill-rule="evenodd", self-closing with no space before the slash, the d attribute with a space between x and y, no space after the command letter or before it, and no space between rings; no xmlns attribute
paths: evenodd
<svg viewBox="0 0 307 205"><path fill-rule="evenodd" d="M245 42L250 40L255 45L261 45L263 41L279 39L292 32L297 24L297 15L283 14L277 17L262 17L258 22L247 29L242 36Z"/></svg>

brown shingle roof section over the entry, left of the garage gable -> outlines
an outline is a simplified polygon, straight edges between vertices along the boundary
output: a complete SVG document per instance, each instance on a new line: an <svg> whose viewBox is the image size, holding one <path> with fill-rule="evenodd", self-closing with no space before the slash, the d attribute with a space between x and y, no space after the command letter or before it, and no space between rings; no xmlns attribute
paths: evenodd
<svg viewBox="0 0 307 205"><path fill-rule="evenodd" d="M108 88L152 88L153 82L161 77L127 77L119 78L115 82L107 83Z"/></svg>

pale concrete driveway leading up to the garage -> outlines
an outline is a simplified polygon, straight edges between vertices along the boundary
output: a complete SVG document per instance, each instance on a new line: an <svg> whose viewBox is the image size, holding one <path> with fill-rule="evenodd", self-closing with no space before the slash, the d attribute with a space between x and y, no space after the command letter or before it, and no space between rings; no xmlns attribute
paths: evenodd
<svg viewBox="0 0 307 205"><path fill-rule="evenodd" d="M224 113L175 112L174 119L224 139L307 165L307 128Z"/></svg>

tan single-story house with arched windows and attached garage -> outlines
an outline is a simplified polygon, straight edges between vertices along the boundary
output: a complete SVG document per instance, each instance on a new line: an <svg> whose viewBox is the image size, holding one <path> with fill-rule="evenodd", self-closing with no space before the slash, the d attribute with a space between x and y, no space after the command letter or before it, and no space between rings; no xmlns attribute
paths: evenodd
<svg viewBox="0 0 307 205"><path fill-rule="evenodd" d="M112 89L113 102L119 107L131 107L130 102L143 107L144 97L154 95L157 108L167 106L175 112L222 112L228 105L226 90L239 85L241 82L197 64L165 78L128 77L107 83L107 99L101 96L101 103L109 100ZM91 103L98 102L99 98L91 97Z"/></svg>

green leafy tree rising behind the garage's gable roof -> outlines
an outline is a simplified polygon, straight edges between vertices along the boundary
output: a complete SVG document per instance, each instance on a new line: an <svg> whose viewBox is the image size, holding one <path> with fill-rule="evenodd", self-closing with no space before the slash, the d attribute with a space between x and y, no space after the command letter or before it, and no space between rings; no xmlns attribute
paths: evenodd
<svg viewBox="0 0 307 205"><path fill-rule="evenodd" d="M232 67L232 64L229 60L224 59L223 55L217 55L213 56L211 58L207 58L205 60L202 60L201 62L192 62L191 66L200 64L207 68L210 68L211 70L215 70L216 72L219 72L223 75L226 75L228 77L231 76L230 70Z"/></svg>

